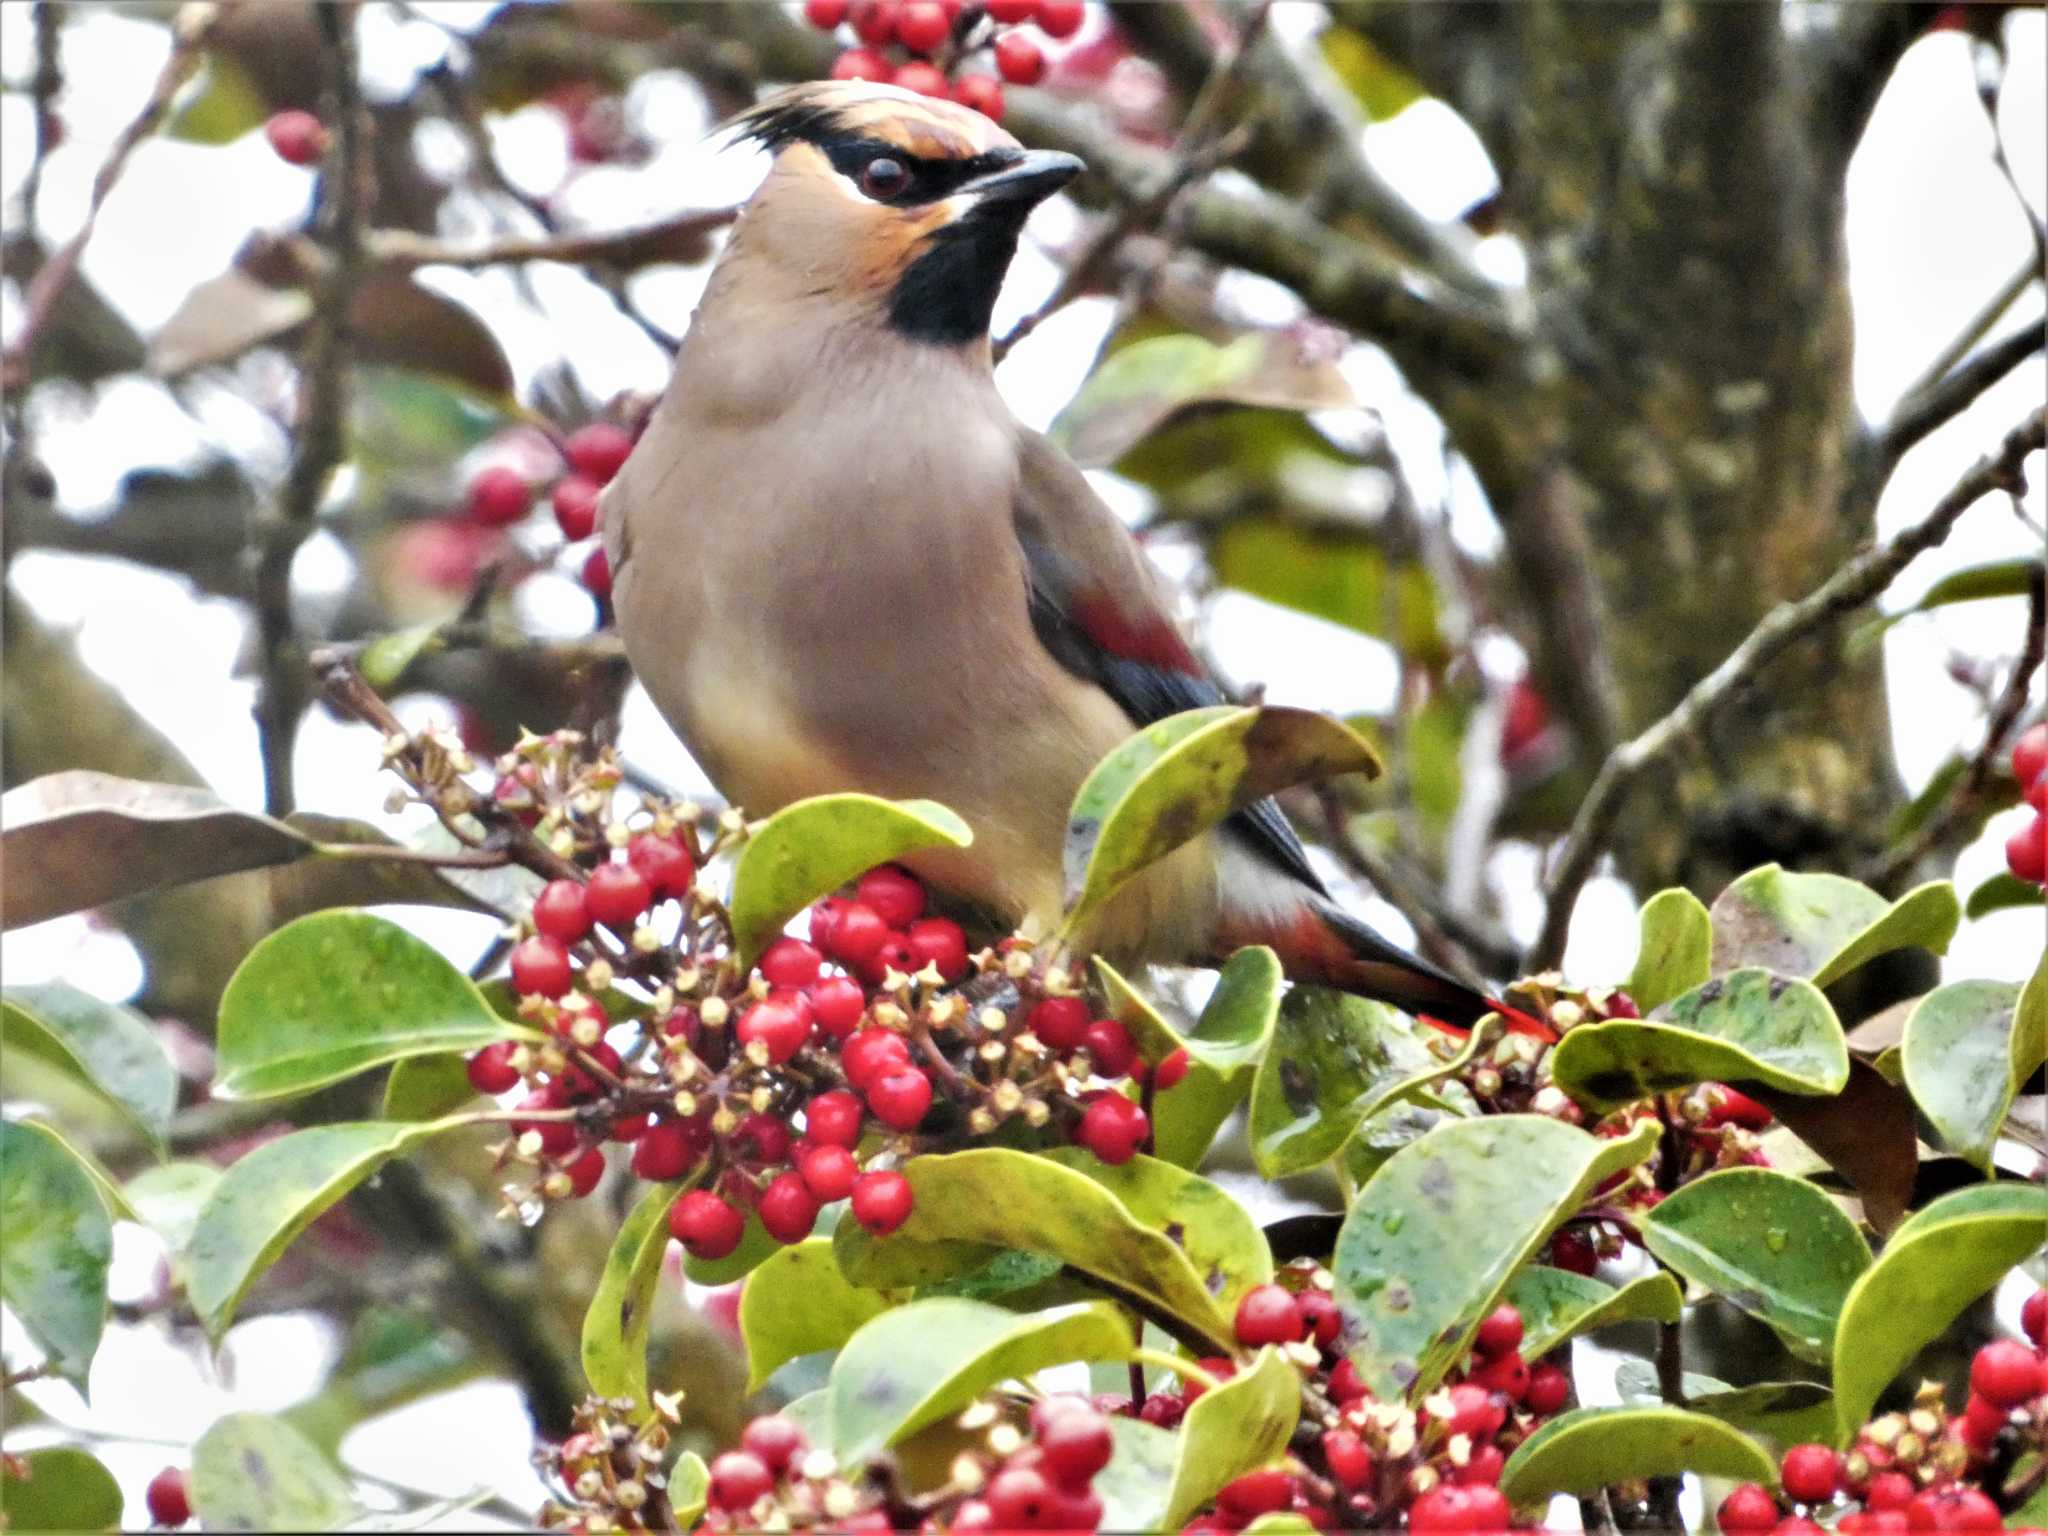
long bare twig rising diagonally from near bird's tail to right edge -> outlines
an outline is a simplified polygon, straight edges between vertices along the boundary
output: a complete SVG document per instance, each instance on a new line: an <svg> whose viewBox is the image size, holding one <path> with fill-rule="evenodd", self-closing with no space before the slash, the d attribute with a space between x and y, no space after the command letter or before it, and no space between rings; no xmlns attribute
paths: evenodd
<svg viewBox="0 0 2048 1536"><path fill-rule="evenodd" d="M1950 528L1976 506L1978 498L1995 489L2023 487L2021 465L2030 453L2042 446L2044 436L2048 436L2048 410L2036 410L2007 432L2005 442L1995 453L1970 465L1925 518L1888 543L1866 549L1798 602L1772 608L1718 668L1692 686L1671 713L1608 754L1544 885L1542 934L1530 952L1530 971L1546 971L1563 954L1571 909L1608 846L1608 834L1622 813L1628 791L1673 748L1696 737L1780 653L1884 592L1917 555L1948 539Z"/></svg>

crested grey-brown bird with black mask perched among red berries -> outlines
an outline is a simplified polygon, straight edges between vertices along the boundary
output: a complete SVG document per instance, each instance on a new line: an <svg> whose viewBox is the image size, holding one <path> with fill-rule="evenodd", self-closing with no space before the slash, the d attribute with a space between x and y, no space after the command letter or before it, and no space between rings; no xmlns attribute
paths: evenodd
<svg viewBox="0 0 2048 1536"><path fill-rule="evenodd" d="M1049 932L1081 780L1133 731L1229 702L1161 573L995 389L1020 231L1083 164L866 82L782 90L731 133L768 174L602 500L627 657L750 813L940 801L973 844L911 870ZM1511 1012L1331 899L1272 801L1145 868L1073 940L1192 965L1268 944L1294 981L1446 1026Z"/></svg>

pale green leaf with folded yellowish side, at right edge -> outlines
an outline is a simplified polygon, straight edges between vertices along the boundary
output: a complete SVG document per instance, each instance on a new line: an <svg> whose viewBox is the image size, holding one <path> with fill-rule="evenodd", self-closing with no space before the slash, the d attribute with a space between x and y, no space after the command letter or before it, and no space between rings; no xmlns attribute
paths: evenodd
<svg viewBox="0 0 2048 1536"><path fill-rule="evenodd" d="M2036 999L2042 971L2028 983ZM1898 1040L1907 1092L1942 1145L1991 1174L1991 1149L2019 1087L2042 1065L2040 1010L2021 1028L2019 987L1952 981L1919 999Z"/></svg>

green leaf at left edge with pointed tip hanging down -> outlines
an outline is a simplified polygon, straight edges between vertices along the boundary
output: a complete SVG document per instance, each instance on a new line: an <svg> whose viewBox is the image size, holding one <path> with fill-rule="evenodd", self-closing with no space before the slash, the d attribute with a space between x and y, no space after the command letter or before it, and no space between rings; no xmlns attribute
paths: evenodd
<svg viewBox="0 0 2048 1536"><path fill-rule="evenodd" d="M106 1327L113 1247L98 1186L63 1143L0 1122L0 1300L80 1393Z"/></svg>

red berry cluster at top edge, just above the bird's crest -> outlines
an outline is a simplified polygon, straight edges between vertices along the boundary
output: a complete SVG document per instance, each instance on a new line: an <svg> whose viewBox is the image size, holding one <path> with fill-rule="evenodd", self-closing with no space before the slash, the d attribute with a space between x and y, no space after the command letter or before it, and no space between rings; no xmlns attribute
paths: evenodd
<svg viewBox="0 0 2048 1536"><path fill-rule="evenodd" d="M1044 78L1044 49L1020 29L1073 37L1087 8L1081 0L807 0L803 14L821 31L846 27L856 39L834 61L834 80L903 86L1001 119L1001 84L958 68L987 51L1004 80L1034 86Z"/></svg>

